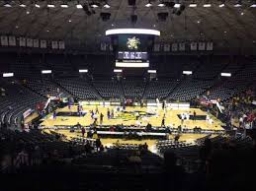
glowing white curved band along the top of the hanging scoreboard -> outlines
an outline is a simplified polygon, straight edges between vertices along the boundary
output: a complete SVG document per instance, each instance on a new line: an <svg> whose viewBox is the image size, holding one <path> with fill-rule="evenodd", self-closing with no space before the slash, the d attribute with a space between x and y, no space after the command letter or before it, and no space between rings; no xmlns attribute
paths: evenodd
<svg viewBox="0 0 256 191"><path fill-rule="evenodd" d="M145 30L145 29L116 29L106 31L106 35L120 34L120 33L138 33L138 34L150 34L150 35L160 35L157 30Z"/></svg>

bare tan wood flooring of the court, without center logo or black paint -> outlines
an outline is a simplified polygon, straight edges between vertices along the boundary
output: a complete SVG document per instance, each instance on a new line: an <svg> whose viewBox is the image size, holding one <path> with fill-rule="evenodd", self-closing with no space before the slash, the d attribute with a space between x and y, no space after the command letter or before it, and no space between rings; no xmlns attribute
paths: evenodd
<svg viewBox="0 0 256 191"><path fill-rule="evenodd" d="M123 123L124 126L136 125L137 121L133 118L124 119L122 117L117 117L121 114L120 111L117 111L117 106L97 106L100 113L103 113L103 125L121 125ZM107 109L115 110L115 118L108 119L107 117ZM93 123L93 119L91 118L90 110L96 111L95 105L83 105L83 110L87 112L85 116L57 116L56 119L53 119L52 113L48 114L41 123L41 126L44 127L54 127L54 126L73 126L78 122L82 126L89 126ZM152 126L161 126L161 121L164 116L164 110L161 107L140 107L140 106L128 106L126 108L127 111L144 111L144 112L155 112L157 113L154 116L143 117L139 119L141 126L146 126L149 122ZM199 109L199 108L189 108L186 110L173 110L167 108L165 111L165 125L179 126L181 125L181 120L178 117L178 114L188 112L193 115L193 112L196 111L197 115L207 115L207 112ZM69 110L68 107L59 108L56 112L77 112L77 105L72 105ZM213 118L213 124L209 124L209 122L205 120L185 120L183 126L186 125L187 128L193 129L195 126L201 127L204 130L213 129L213 130L223 130L221 125L221 121L216 119L213 115L210 115ZM98 114L99 118L99 114ZM99 120L98 120L99 121Z"/></svg>

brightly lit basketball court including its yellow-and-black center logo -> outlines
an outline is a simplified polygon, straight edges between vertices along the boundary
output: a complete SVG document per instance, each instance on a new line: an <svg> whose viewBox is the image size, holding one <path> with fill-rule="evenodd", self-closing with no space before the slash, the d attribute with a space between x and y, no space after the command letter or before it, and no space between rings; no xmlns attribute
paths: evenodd
<svg viewBox="0 0 256 191"><path fill-rule="evenodd" d="M77 105L72 105L69 109L68 106L58 108L56 110L56 117L53 119L52 113L48 114L43 118L41 126L43 128L50 127L66 127L74 126L80 123L82 126L90 126L94 119L91 117L91 111L96 112L98 108L98 123L100 121L100 113L104 115L103 126L121 125L124 126L140 126L144 127L150 123L153 127L160 127L162 119L165 115L165 126L178 127L179 125L193 129L194 127L201 127L203 130L223 130L221 125L224 125L220 120L216 119L213 115L199 108L188 108L188 109L170 109L167 108L165 111L161 107L154 106L127 106L126 110L122 110L120 106L103 106L103 105L83 105L83 112L81 116L77 113ZM108 119L107 111L114 111L114 117ZM196 112L196 120L192 119L192 115ZM181 114L187 113L190 118L185 119L184 122L181 120ZM206 120L207 115L213 119L211 124ZM136 116L138 116L136 120Z"/></svg>

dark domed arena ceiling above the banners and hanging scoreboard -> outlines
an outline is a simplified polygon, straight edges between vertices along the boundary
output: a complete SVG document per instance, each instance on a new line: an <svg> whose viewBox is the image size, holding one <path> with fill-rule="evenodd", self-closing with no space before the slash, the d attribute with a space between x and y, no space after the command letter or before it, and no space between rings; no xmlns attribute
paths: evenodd
<svg viewBox="0 0 256 191"><path fill-rule="evenodd" d="M104 7L106 2L110 8ZM148 2L152 6L146 7ZM159 0L136 0L135 6L128 6L128 0L1 1L0 32L34 38L94 42L102 40L108 29L136 27L161 31L160 40L213 40L230 46L255 43L256 8L251 5L256 4L256 1L174 2L185 5L185 10L179 16L173 13L174 8L159 7ZM92 3L99 3L99 7L92 8ZM192 3L196 3L197 7L190 7ZM219 7L222 3L225 6ZM235 7L237 3L241 6ZM53 4L54 8L47 7L48 4ZM61 4L67 4L68 7L62 8ZM83 5L85 9L77 9L77 4ZM204 7L204 4L212 6ZM111 13L110 19L102 21L101 13ZM158 13L168 13L166 21L160 21ZM131 24L130 15L137 16L136 24Z"/></svg>

